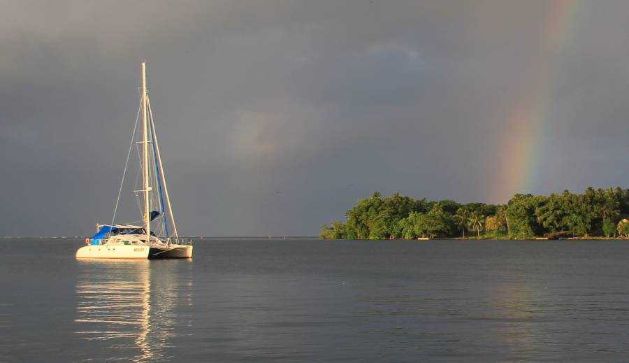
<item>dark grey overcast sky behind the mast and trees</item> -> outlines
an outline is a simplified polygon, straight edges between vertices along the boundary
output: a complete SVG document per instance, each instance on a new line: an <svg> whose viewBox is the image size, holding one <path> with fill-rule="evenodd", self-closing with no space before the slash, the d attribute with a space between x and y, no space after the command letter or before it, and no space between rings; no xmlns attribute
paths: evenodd
<svg viewBox="0 0 629 363"><path fill-rule="evenodd" d="M184 235L317 234L374 191L629 187L627 1L0 8L0 235L110 221L143 59ZM518 139L514 122L539 132ZM505 140L540 151L531 183L503 180L524 167L505 165Z"/></svg>

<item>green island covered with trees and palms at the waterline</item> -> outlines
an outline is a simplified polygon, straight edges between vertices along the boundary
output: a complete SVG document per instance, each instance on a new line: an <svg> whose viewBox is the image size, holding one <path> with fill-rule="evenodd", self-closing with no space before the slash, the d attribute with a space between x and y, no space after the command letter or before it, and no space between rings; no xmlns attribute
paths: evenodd
<svg viewBox="0 0 629 363"><path fill-rule="evenodd" d="M565 190L550 196L516 194L505 205L427 201L375 192L323 225L321 239L535 239L629 237L629 190Z"/></svg>

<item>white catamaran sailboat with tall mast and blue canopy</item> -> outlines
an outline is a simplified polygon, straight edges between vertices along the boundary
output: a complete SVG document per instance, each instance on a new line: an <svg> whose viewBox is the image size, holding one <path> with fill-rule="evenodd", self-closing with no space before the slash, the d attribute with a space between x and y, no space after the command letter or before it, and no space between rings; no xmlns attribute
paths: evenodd
<svg viewBox="0 0 629 363"><path fill-rule="evenodd" d="M168 188L164 179L164 167L161 164L159 145L155 134L153 113L146 90L146 63L142 62L142 94L140 96L140 111L142 113L142 138L135 141L136 129L133 131L133 141L127 155L122 183L129 164L129 156L135 142L139 145L141 154L140 164L143 187L136 190L136 195L143 199L142 221L136 224L120 225L113 222L108 225L96 225L96 234L85 239L85 246L76 251L76 258L108 258L108 259L158 259L158 258L191 258L192 241L180 239L177 234L175 218L171 200L168 198ZM138 118L140 112L138 111ZM114 208L117 211L120 192ZM159 210L155 211L154 206ZM156 228L152 228L152 222ZM168 224L170 222L170 225ZM171 232L169 232L171 227Z"/></svg>

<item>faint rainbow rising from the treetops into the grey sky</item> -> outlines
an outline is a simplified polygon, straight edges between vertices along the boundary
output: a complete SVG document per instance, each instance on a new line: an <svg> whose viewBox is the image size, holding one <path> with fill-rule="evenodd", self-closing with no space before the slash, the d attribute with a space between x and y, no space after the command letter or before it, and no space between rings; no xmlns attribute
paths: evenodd
<svg viewBox="0 0 629 363"><path fill-rule="evenodd" d="M556 0L544 15L544 38L540 42L537 71L523 92L519 103L507 118L507 136L498 150L500 177L491 191L491 201L506 203L516 193L533 192L540 185L540 162L547 127L551 124L554 76L563 49L570 43L579 14L586 1Z"/></svg>

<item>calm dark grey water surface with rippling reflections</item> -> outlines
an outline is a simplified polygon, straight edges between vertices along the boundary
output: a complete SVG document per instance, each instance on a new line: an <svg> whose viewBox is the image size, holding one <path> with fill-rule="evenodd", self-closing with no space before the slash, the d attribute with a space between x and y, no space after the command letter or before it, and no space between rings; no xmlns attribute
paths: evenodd
<svg viewBox="0 0 629 363"><path fill-rule="evenodd" d="M0 241L0 362L625 362L629 242Z"/></svg>

